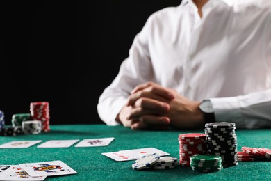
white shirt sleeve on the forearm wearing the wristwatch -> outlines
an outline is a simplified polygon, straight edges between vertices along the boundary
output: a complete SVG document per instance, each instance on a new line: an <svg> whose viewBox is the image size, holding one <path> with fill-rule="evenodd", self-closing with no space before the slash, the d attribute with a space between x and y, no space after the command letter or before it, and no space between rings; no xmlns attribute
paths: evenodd
<svg viewBox="0 0 271 181"><path fill-rule="evenodd" d="M271 127L271 89L237 97L211 99L217 122L236 123L239 129Z"/></svg>

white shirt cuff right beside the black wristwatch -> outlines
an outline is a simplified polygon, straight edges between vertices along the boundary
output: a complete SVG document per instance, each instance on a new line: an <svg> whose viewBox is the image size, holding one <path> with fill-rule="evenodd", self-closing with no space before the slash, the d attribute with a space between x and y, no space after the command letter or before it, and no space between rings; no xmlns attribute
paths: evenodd
<svg viewBox="0 0 271 181"><path fill-rule="evenodd" d="M238 97L223 97L210 99L213 105L216 122L235 123L236 128L245 128Z"/></svg>

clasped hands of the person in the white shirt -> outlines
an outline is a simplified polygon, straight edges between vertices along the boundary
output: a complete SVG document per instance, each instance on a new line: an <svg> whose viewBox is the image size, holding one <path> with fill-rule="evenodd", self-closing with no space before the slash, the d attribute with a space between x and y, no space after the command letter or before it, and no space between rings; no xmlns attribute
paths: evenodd
<svg viewBox="0 0 271 181"><path fill-rule="evenodd" d="M126 120L132 129L146 129L167 123L176 129L194 129L204 125L199 102L188 100L170 88L148 82L137 86L129 97L131 106ZM164 122L163 122L164 121Z"/></svg>

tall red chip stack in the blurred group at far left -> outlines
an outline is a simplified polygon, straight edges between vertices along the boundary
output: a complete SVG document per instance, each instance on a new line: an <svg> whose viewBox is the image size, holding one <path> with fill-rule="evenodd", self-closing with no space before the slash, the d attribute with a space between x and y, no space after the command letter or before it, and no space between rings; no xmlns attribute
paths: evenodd
<svg viewBox="0 0 271 181"><path fill-rule="evenodd" d="M30 113L33 120L42 122L42 132L49 132L49 102L31 102Z"/></svg>

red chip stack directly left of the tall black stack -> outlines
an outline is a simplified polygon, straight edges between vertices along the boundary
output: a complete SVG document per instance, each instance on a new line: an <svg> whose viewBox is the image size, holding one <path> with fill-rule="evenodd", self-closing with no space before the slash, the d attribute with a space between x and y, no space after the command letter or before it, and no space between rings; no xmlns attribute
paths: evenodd
<svg viewBox="0 0 271 181"><path fill-rule="evenodd" d="M179 134L179 164L190 166L190 156L206 153L206 134Z"/></svg>

